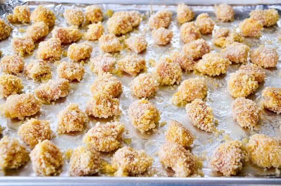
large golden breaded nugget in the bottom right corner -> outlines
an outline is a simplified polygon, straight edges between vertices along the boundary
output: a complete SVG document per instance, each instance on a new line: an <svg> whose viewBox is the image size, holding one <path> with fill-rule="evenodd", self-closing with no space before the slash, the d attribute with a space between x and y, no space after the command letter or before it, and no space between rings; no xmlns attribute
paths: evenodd
<svg viewBox="0 0 281 186"><path fill-rule="evenodd" d="M252 163L263 168L281 167L280 141L264 134L250 137L247 150Z"/></svg>

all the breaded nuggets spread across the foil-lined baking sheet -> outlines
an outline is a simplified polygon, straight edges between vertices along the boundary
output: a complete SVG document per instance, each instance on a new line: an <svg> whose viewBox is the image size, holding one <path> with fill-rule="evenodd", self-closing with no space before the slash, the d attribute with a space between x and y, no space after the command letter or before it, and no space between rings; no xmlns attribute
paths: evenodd
<svg viewBox="0 0 281 186"><path fill-rule="evenodd" d="M230 5L216 5L215 14L220 21L234 21L234 10ZM107 119L121 114L118 96L123 88L121 81L113 76L117 71L115 64L118 65L118 70L135 77L129 86L131 94L138 100L129 106L128 116L137 130L147 132L154 129L160 120L158 109L148 100L155 96L159 85L180 84L177 92L172 95L172 104L185 107L190 122L200 130L215 132L213 110L203 101L208 91L204 78L181 81L182 73L194 70L214 77L226 74L231 63L243 63L239 70L230 74L227 90L236 98L232 103L234 120L241 127L253 129L258 124L263 109L246 97L257 90L259 83L265 81L263 68L275 67L279 56L276 49L271 47L251 49L244 44L243 36L261 36L263 27L273 26L279 20L278 12L275 9L252 11L250 18L239 24L240 32L227 28L214 30L215 21L207 13L200 14L193 22L194 15L187 5L178 5L176 19L181 24L180 38L184 43L182 51L172 51L171 56L162 57L156 62L152 73L138 76L146 69L145 59L138 54L145 51L147 41L142 36L130 36L125 41L118 37L140 25L142 16L138 11L115 12L106 22L106 33L102 24L102 9L96 5L87 6L84 12L78 8L65 9L63 16L69 27L54 27L54 12L43 6L38 6L32 13L28 6L16 6L13 14L7 16L8 21L32 24L27 28L24 37L12 39L16 54L1 58L0 97L6 98L6 102L1 105L1 114L7 118L24 120L39 112L42 104L66 97L70 92L70 83L83 78L85 70L78 62L90 58L90 68L97 75L90 88L93 95L87 102L85 111L79 109L78 104L70 103L58 113L58 134L85 130L89 117ZM156 45L167 45L171 42L173 32L168 29L171 21L172 12L169 10L159 10L149 17L147 26ZM79 30L83 25L88 25L85 33ZM0 19L0 40L8 38L11 30L11 26ZM50 31L52 37L44 40ZM222 47L220 53L211 51L202 38L202 35L212 32L212 43ZM81 39L87 41L76 43ZM91 58L93 41L98 41L99 48L104 53ZM25 64L24 57L32 54L36 43L39 43L36 60ZM68 44L70 46L67 56L73 62L59 62L58 78L51 79L50 63L61 59L62 46ZM110 54L124 48L134 54L120 60ZM251 63L246 64L249 54ZM24 87L21 79L17 77L22 72L28 79L43 82L34 90L34 94L22 93ZM266 87L262 96L265 108L277 114L281 113L281 88ZM122 147L124 131L125 124L120 122L95 124L83 137L85 145L73 151L69 174L86 176L102 171L104 160L100 153L114 153L112 169L116 176L147 173L154 161L152 156L143 150ZM15 138L4 136L0 140L0 169L17 169L30 158L37 175L60 174L63 155L51 142L54 132L47 120L28 119L18 128L17 134L28 148ZM178 177L202 175L202 165L198 157L187 150L194 139L193 134L183 124L169 121L165 143L158 152L163 167L172 168ZM235 175L249 159L259 167L280 168L280 141L262 134L252 135L247 145L238 140L227 141L215 149L210 167L225 176Z"/></svg>

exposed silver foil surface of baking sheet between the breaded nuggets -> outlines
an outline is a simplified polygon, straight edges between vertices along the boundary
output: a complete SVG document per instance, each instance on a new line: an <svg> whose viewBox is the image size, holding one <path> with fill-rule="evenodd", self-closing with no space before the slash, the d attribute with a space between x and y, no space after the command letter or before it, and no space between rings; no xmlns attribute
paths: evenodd
<svg viewBox="0 0 281 186"><path fill-rule="evenodd" d="M2 18L7 16L7 13L12 13L13 6L15 4L20 3L17 1L10 1L7 4L0 5L0 15ZM63 10L65 8L69 8L71 6L84 8L86 7L85 4L68 4L68 3L51 3L51 2L27 2L26 4L30 5L31 11L34 10L39 4L43 4L45 7L50 8L53 10L56 14L57 20L55 25L56 26L67 26L65 24L65 21L62 17ZM122 4L100 4L100 7L102 8L103 12L106 12L106 10L111 9L113 11L120 11L120 10L138 10L141 13L143 13L143 21L141 21L140 26L129 33L129 35L143 35L145 36L146 40L148 41L148 47L145 53L141 54L141 56L146 58L147 61L147 72L151 72L152 67L149 65L149 60L153 59L157 61L160 57L163 56L169 56L172 50L180 50L183 46L183 43L179 39L179 28L180 25L176 21L176 5L151 5L151 4L145 4L145 5L122 5ZM279 10L279 14L281 13L281 5L257 5L257 6L234 6L235 10L235 21L232 23L222 23L216 20L214 16L214 9L212 6L192 6L192 9L195 11L195 17L199 15L200 13L207 12L214 20L216 20L216 27L228 27L228 28L234 28L237 29L237 25L241 21L241 19L244 19L248 17L249 12L253 9L266 9L266 8L276 8ZM146 26L149 14L151 11L157 11L163 8L167 8L171 10L174 14L172 16L172 22L170 24L169 29L171 29L174 33L174 36L172 38L171 44L160 47L153 43L153 40L151 38L151 32ZM107 19L107 17L105 17ZM105 25L106 20L103 21L103 25ZM0 50L2 51L3 55L11 54L12 48L10 45L10 42L13 37L20 37L24 35L25 33L19 32L18 28L23 28L26 30L28 26L22 26L22 25L13 25L13 31L11 34L11 37L9 37L7 40L0 42ZM270 28L265 28L263 31L263 36L260 38L251 38L245 39L245 42L252 47L259 46L259 45L265 45L265 46L273 46L277 47L277 51L279 53L279 56L281 56L281 20L278 21L277 26L273 26ZM106 30L106 29L105 29ZM85 32L86 27L81 28L81 32ZM47 40L51 37L51 34L48 34L48 36L45 38ZM212 50L219 51L220 48L214 47L211 44L211 35L203 35L203 38L208 42L208 44L211 46ZM80 40L78 43L84 42L84 40ZM97 56L101 53L99 48L97 47L97 42L89 42L93 46L93 52L91 54L91 57ZM38 46L38 44L37 44ZM37 50L34 50L34 53L36 53ZM64 50L67 51L68 46L64 46ZM121 56L124 56L128 53L128 51L122 51L120 55L116 55L116 58L120 58ZM33 59L33 56L27 56L25 57L24 61L25 63L30 62L31 59ZM68 58L62 58L62 61L68 61ZM52 78L57 78L56 74L56 63L51 64L52 66ZM50 121L51 129L56 132L56 123L57 118L56 115L60 110L62 110L64 107L66 107L69 103L77 103L81 109L85 109L87 100L91 97L90 93L90 85L96 78L96 76L90 71L88 64L86 63L85 66L85 74L81 82L75 82L71 83L71 91L69 95L66 98L60 99L55 102L54 105L43 105L41 107L40 113L37 114L39 119L47 119ZM229 136L231 139L234 140L242 140L242 139L248 139L250 135L254 133L263 133L269 136L275 136L278 139L281 139L281 131L279 129L281 125L281 116L280 114L277 115L271 111L264 110L263 116L259 122L260 124L260 130L257 131L251 131L248 129L242 129L236 122L234 122L232 115L231 115L231 102L233 101L233 98L229 95L229 93L226 90L226 82L229 78L230 73L234 72L239 68L239 65L231 65L228 68L227 74L215 78L211 78L208 76L200 75L200 74L194 74L193 72L190 73L183 73L182 80L191 78L191 77L204 77L207 81L208 85L208 93L206 97L206 103L210 107L213 108L213 112L215 115L215 118L219 121L219 124L217 125L217 128L219 130L224 131L219 137L215 137L212 133L207 133L200 131L196 127L194 127L192 124L190 124L186 110L184 108L176 107L171 104L171 97L172 94L177 91L177 85L174 86L160 86L160 89L156 93L156 96L150 101L152 101L156 108L160 111L160 122L168 122L170 119L174 119L179 121L180 123L184 124L195 136L196 140L194 140L193 145L191 146L190 150L193 154L198 155L201 159L203 159L203 173L204 177L212 177L212 176L220 176L220 174L217 174L215 172L212 172L210 168L208 167L208 157L212 155L213 150L216 148L216 146L222 142L223 139L227 139ZM250 95L250 98L255 100L257 103L261 101L261 91L267 87L267 86L274 86L274 87L281 87L280 79L281 79L281 64L280 60L276 68L265 70L266 72L266 78L265 82L261 83L259 85L259 89L252 95ZM130 95L129 90L129 82L133 79L130 76L124 75L123 77L117 77L119 80L122 81L123 85L123 93L121 94L120 98L120 109L122 110L122 114L119 117L120 122L125 123L125 128L128 130L128 133L124 133L125 139L131 139L130 146L136 149L144 149L147 154L152 155L155 159L153 168L156 169L156 174L153 175L154 177L166 177L166 176L172 176L173 172L171 170L164 170L162 166L160 165L158 158L157 158L157 149L158 147L164 143L164 132L167 129L168 125L158 126L156 130L151 131L150 133L140 133L137 131L129 122L127 109L129 105L136 100L136 98L132 97ZM33 93L34 89L39 86L39 83L33 82L32 80L27 80L25 77L21 76L21 79L23 81L24 90L25 93ZM4 103L5 100L1 99L0 104ZM74 149L78 145L81 145L81 139L83 135L87 132L88 129L94 126L97 122L105 123L109 120L94 120L91 118L90 123L87 126L87 129L80 133L75 133L71 135L60 135L56 136L52 141L62 150L62 152L65 152L67 149L71 148ZM0 125L4 126L5 129L3 131L4 135L9 136L16 136L17 128L19 125L22 124L22 121L17 120L9 120L4 117L0 117ZM107 161L110 161L111 155L104 155L104 158ZM278 172L275 169L270 170L264 170L262 168L257 168L251 163L246 163L245 167L242 171L238 173L238 176L273 176L273 177L279 177L276 176L276 172ZM13 170L6 172L6 175L11 176L35 176L35 173L31 169L31 162L29 162L27 165L23 166L19 170ZM60 176L68 176L68 161L65 160L65 165L62 168L62 173ZM104 175L106 176L106 175Z"/></svg>

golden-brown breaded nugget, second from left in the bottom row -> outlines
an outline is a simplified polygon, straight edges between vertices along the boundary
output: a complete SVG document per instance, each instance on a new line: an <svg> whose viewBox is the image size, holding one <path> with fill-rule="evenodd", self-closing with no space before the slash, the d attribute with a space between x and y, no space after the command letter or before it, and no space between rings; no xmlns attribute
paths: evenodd
<svg viewBox="0 0 281 186"><path fill-rule="evenodd" d="M33 171L38 176L56 176L61 173L63 158L60 149L49 140L39 142L30 153Z"/></svg>

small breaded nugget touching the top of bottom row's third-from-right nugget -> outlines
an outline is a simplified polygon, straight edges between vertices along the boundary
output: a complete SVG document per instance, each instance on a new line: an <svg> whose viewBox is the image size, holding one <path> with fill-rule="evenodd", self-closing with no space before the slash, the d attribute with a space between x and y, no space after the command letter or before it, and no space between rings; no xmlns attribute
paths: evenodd
<svg viewBox="0 0 281 186"><path fill-rule="evenodd" d="M184 125L175 120L170 120L168 130L165 133L165 140L183 147L188 147L192 145L194 136Z"/></svg>

